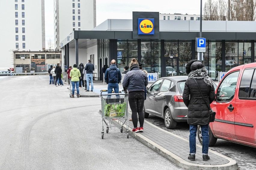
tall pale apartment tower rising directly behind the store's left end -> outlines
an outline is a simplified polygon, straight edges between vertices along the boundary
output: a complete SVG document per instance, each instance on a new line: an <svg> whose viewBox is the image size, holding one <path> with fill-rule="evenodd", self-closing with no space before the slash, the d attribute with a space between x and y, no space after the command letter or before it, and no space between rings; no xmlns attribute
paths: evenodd
<svg viewBox="0 0 256 170"><path fill-rule="evenodd" d="M54 49L74 30L96 27L96 0L54 0Z"/></svg>

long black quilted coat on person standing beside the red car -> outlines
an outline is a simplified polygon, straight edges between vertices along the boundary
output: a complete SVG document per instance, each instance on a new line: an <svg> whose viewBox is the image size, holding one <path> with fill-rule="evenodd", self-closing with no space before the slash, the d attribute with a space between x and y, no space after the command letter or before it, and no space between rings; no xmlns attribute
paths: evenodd
<svg viewBox="0 0 256 170"><path fill-rule="evenodd" d="M191 65L190 68L191 70L196 70L199 67L194 64ZM208 106L210 107L210 103L212 103L215 99L215 90L214 87L207 85L204 82L204 79L196 80L207 104L203 100L203 97L197 87L195 80L192 78L188 78L185 82L184 92L182 96L185 105L188 107L187 123L193 125L207 125L210 123Z"/></svg>

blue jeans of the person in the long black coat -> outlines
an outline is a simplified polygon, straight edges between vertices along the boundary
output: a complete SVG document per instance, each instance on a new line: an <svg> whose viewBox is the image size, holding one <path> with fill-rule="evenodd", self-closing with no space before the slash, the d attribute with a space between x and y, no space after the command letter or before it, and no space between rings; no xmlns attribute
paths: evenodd
<svg viewBox="0 0 256 170"><path fill-rule="evenodd" d="M197 136L197 125L189 125L189 148L190 148L190 154L196 154L196 136ZM202 137L203 137L203 148L202 153L203 155L208 154L209 149L209 129L208 124L207 125L200 125Z"/></svg>

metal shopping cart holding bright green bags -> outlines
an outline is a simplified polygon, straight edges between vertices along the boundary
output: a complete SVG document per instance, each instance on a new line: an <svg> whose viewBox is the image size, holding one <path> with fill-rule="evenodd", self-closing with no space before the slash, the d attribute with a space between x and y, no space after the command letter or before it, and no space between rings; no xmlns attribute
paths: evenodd
<svg viewBox="0 0 256 170"><path fill-rule="evenodd" d="M111 93L111 94L102 94L107 90L101 90L101 110L102 110L102 132L101 138L104 137L104 124L107 125L106 132L108 133L109 127L118 127L120 132L123 133L123 125L127 121L127 138L129 138L129 121L128 121L128 94L124 93ZM117 124L114 124L114 121L118 121Z"/></svg>

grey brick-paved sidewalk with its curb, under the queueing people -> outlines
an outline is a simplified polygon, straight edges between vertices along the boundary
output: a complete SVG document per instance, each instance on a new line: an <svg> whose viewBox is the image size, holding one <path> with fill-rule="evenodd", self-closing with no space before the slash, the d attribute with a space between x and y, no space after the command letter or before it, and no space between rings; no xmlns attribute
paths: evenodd
<svg viewBox="0 0 256 170"><path fill-rule="evenodd" d="M152 84L152 83L151 83ZM149 84L148 87L151 85ZM102 81L93 81L93 92L86 91L80 88L80 94L82 97L100 97L100 90L106 90L108 85L103 85ZM119 89L123 89L121 84L119 84ZM68 86L69 88L69 86ZM91 90L91 88L90 88ZM131 118L131 110L129 108L129 118ZM118 123L117 121L115 123ZM129 122L130 136L133 136L143 144L147 145L149 148L153 149L160 155L166 157L168 160L175 163L177 166L185 169L191 170L237 170L238 166L235 160L228 158L222 154L209 149L210 160L203 161L202 158L202 146L197 145L196 160L190 161L187 159L189 154L189 141L173 133L170 133L160 127L151 124L150 122L144 122L144 132L143 133L133 133L133 124ZM124 126L124 132L126 131L126 126ZM106 130L106 128L105 128ZM106 134L107 135L107 134ZM104 140L104 139L103 139Z"/></svg>

